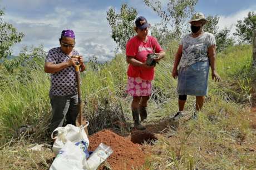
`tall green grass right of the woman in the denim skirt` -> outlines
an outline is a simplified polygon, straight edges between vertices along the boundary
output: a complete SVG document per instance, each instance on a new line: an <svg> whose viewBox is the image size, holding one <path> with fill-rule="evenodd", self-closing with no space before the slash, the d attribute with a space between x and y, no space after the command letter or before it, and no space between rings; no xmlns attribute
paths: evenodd
<svg viewBox="0 0 256 170"><path fill-rule="evenodd" d="M234 46L218 54L217 69L223 81L218 84L210 81L210 93L226 96L235 102L251 101L252 47Z"/></svg>

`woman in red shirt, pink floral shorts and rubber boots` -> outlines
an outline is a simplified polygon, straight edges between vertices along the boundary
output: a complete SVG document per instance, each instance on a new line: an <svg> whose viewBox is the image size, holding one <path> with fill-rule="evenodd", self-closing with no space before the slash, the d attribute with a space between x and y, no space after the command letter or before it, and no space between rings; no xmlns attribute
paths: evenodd
<svg viewBox="0 0 256 170"><path fill-rule="evenodd" d="M126 61L129 63L127 93L133 96L131 111L134 126L143 130L145 127L140 123L140 119L143 121L147 117L147 101L152 92L151 81L154 79L154 66L147 65L147 54L156 53L157 58L154 60L159 62L164 58L165 52L155 37L147 35L150 24L147 23L146 18L138 17L135 26L137 35L126 44Z"/></svg>

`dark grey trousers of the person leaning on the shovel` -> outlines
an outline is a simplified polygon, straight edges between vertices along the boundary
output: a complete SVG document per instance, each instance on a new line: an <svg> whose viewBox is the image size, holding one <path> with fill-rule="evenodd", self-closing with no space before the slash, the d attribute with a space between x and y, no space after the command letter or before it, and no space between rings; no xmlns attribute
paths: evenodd
<svg viewBox="0 0 256 170"><path fill-rule="evenodd" d="M78 114L78 97L77 94L69 96L55 96L50 94L52 106L52 119L50 124L50 132L52 133L57 127L65 124L73 124L76 126L76 118Z"/></svg>

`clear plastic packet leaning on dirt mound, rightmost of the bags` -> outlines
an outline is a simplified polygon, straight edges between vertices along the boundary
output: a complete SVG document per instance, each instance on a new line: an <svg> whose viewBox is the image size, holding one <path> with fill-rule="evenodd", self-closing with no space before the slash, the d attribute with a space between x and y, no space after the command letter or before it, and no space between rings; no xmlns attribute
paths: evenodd
<svg viewBox="0 0 256 170"><path fill-rule="evenodd" d="M103 143L96 148L96 150L91 154L91 156L87 159L87 162L84 166L85 169L96 170L100 164L113 153L111 147L106 146Z"/></svg>

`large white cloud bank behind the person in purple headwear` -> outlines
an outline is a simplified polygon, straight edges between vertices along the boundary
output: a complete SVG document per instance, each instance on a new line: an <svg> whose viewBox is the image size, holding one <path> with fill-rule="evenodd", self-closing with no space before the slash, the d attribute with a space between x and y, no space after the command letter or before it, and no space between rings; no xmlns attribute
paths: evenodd
<svg viewBox="0 0 256 170"><path fill-rule="evenodd" d="M23 46L32 44L43 44L47 51L59 46L58 38L63 29L73 29L76 34L75 49L83 56L97 56L100 61L107 61L115 55L112 49L115 49L116 43L110 37L111 28L106 20L105 9L78 9L74 13L65 8L55 7L55 11L40 18L26 18L6 13L4 21L12 23L19 32L25 34L22 42L13 46L14 55L18 54Z"/></svg>

